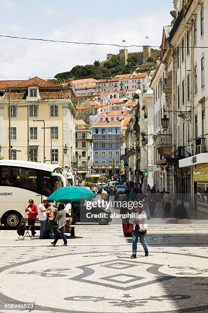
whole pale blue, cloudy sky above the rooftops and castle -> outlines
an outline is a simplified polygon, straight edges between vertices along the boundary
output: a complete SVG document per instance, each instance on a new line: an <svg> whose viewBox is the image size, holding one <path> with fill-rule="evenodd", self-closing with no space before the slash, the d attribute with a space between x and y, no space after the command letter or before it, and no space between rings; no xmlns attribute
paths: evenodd
<svg viewBox="0 0 208 313"><path fill-rule="evenodd" d="M120 45L124 39L127 46L160 46L163 26L171 24L172 3L172 0L0 0L0 34ZM95 59L105 60L108 53L118 52L118 47L0 37L0 80L53 78L75 65L92 64Z"/></svg>

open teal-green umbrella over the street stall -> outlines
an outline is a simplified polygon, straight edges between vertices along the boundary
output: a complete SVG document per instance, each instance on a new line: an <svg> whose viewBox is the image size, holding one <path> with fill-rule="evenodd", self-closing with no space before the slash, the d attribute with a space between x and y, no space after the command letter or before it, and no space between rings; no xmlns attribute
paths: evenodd
<svg viewBox="0 0 208 313"><path fill-rule="evenodd" d="M66 186L54 191L48 198L48 202L69 202L88 200L95 197L95 193L91 190L78 187L78 186Z"/></svg>

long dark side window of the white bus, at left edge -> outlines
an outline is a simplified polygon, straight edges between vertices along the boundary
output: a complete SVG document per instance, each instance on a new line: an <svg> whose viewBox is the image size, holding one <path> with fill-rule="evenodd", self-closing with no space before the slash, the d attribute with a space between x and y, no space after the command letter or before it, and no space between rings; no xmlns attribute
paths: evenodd
<svg viewBox="0 0 208 313"><path fill-rule="evenodd" d="M0 185L37 191L37 171L28 168L2 167Z"/></svg>

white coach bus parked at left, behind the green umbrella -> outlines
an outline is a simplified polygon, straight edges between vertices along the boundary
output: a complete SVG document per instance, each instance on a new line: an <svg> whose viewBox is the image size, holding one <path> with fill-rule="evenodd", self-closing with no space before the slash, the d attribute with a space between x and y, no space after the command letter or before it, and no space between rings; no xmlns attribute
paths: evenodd
<svg viewBox="0 0 208 313"><path fill-rule="evenodd" d="M62 168L54 164L0 160L0 219L6 229L16 229L31 198L39 205L56 189L66 186Z"/></svg>

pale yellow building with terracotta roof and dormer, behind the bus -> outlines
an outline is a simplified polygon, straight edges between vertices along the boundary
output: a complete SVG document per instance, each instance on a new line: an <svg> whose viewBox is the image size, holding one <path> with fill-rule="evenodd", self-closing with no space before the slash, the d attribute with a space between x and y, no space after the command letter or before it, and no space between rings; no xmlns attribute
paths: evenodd
<svg viewBox="0 0 208 313"><path fill-rule="evenodd" d="M0 81L1 157L71 167L75 162L75 111L69 87L38 77Z"/></svg>

